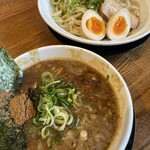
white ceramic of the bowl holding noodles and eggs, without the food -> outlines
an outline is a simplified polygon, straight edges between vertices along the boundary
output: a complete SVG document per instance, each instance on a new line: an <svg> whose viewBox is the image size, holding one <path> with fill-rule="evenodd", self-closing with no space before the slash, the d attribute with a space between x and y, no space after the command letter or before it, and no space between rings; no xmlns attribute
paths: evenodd
<svg viewBox="0 0 150 150"><path fill-rule="evenodd" d="M150 33L150 2L149 0L134 0L134 1L138 2L140 5L140 23L137 29L134 29L134 31L131 32L126 38L115 41L107 39L104 39L102 41L94 41L75 36L65 31L60 26L58 26L51 17L53 7L50 3L50 0L38 0L38 9L43 20L47 23L47 25L51 27L55 32L59 33L60 35L68 39L89 45L114 46L134 42L136 40L145 37Z"/></svg>

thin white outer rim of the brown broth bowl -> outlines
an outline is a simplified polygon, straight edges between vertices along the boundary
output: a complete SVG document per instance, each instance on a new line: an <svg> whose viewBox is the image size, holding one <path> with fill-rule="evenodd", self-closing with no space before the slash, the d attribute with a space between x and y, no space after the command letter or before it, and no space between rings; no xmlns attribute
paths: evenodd
<svg viewBox="0 0 150 150"><path fill-rule="evenodd" d="M69 48L69 49L74 49L74 50L77 50L77 51L83 51L85 53L89 53L89 55L94 55L95 57L98 57L99 59L101 59L102 61L104 61L105 63L107 63L110 68L113 70L113 72L115 72L118 77L120 78L120 81L123 83L124 87L125 87L125 92L127 93L127 97L128 97L128 101L129 101L129 106L130 106L130 109L129 109L129 120L128 121L128 124L126 126L126 130L128 131L126 133L126 135L124 136L123 138L123 141L122 141L122 145L119 147L119 150L123 150L126 148L127 144L128 144L128 141L129 141L129 138L130 138L130 135L132 133L132 126L133 126L133 103L132 103L132 98L131 98L131 94L129 92L129 89L127 87L127 84L125 83L123 77L121 76L121 74L118 72L118 70L109 62L107 61L105 58L103 58L102 56L94 53L94 52L91 52L87 49L84 49L84 48L80 48L80 47L76 47L76 46L70 46L70 45L50 45L50 46L44 46L44 47L40 47L40 48L36 48L36 49L33 49L31 51L28 51L18 57L15 58L15 62L17 63L17 61L20 59L20 58L23 58L23 57L27 57L28 54L30 54L30 52L34 52L34 51L41 51L41 52L45 52L43 51L44 49L47 51L51 48ZM38 60L39 61L39 60ZM36 62L33 62L33 63L36 63ZM111 146L111 145L110 145Z"/></svg>

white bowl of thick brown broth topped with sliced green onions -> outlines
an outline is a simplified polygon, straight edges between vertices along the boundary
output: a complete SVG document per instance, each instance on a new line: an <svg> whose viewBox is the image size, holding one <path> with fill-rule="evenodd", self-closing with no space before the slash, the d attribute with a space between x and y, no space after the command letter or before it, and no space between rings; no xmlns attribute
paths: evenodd
<svg viewBox="0 0 150 150"><path fill-rule="evenodd" d="M37 115L23 128L27 149L126 148L133 125L132 98L125 81L107 60L80 47L53 45L29 51L15 61L25 75L19 97L29 93L33 104L39 101ZM14 113L18 108L14 100L11 113L18 124L22 120L16 115L20 111Z"/></svg>

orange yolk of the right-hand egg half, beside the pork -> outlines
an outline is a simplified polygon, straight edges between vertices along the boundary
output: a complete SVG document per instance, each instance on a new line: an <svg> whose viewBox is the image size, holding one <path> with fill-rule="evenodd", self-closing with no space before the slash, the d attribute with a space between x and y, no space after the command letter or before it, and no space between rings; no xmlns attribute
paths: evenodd
<svg viewBox="0 0 150 150"><path fill-rule="evenodd" d="M114 20L111 30L115 35L121 35L126 31L126 28L127 23L125 18L123 16L119 16Z"/></svg>

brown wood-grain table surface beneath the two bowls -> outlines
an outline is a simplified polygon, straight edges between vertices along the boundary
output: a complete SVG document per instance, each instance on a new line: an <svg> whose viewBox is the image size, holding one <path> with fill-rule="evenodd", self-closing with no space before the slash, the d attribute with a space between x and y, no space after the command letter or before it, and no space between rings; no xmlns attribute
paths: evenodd
<svg viewBox="0 0 150 150"><path fill-rule="evenodd" d="M62 44L42 20L37 0L0 0L0 46L13 58L41 46ZM150 150L150 38L133 51L104 57L123 76L132 96L136 114L133 149Z"/></svg>

